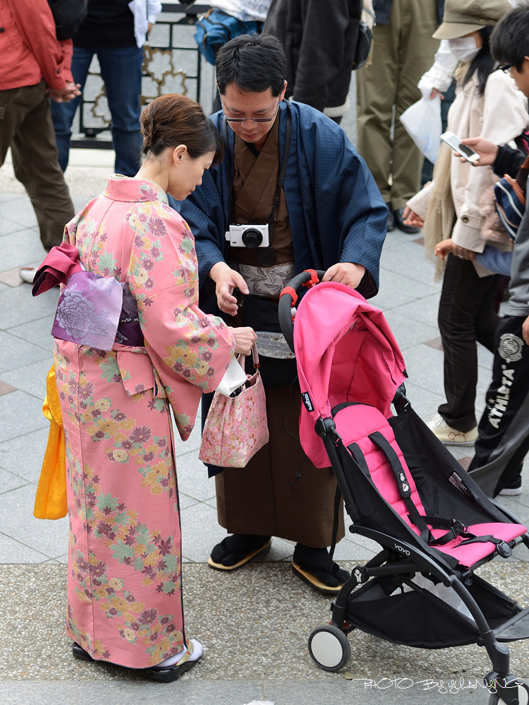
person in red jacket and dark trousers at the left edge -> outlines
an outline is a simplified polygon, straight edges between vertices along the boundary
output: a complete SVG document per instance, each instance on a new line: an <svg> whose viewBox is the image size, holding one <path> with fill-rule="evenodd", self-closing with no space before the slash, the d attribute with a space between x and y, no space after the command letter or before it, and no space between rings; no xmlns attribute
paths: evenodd
<svg viewBox="0 0 529 705"><path fill-rule="evenodd" d="M59 42L47 0L0 3L0 166L11 147L16 178L31 199L45 250L60 245L74 210L59 167L49 97L79 95L72 42Z"/></svg>

